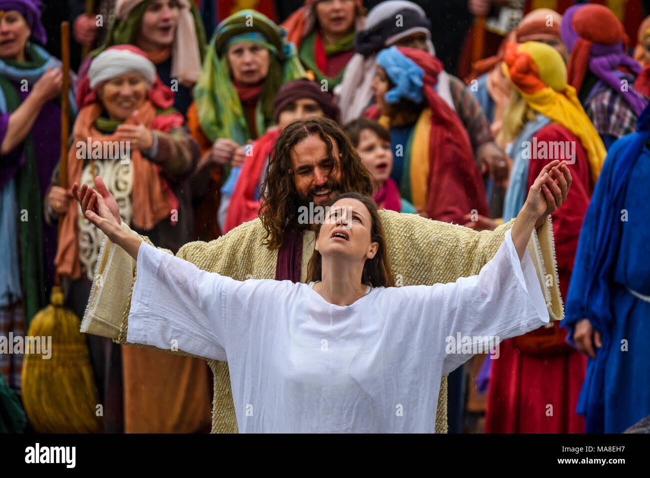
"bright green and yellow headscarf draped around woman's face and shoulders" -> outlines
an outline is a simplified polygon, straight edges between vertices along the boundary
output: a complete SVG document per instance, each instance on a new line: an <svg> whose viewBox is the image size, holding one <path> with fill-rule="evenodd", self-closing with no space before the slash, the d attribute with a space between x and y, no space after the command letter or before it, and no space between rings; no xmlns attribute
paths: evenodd
<svg viewBox="0 0 650 478"><path fill-rule="evenodd" d="M255 107L255 127L262 134L274 123L273 99L280 86L305 77L296 47L285 37L283 28L255 10L241 10L216 27L199 81L194 86L199 123L211 142L217 138L231 138L244 144L253 139L244 108L230 79L226 51L231 40L255 42L270 51L268 75Z"/></svg>

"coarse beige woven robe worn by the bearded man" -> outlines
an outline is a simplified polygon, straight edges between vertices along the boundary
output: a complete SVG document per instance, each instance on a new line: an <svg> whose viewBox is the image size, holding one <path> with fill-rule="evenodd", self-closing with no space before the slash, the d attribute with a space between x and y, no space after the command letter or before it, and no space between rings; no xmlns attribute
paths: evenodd
<svg viewBox="0 0 650 478"><path fill-rule="evenodd" d="M473 229L432 221L415 214L380 210L391 267L397 286L456 281L477 274L499 249L504 233L513 221L496 231L477 233ZM123 225L124 229L128 229ZM133 233L133 232L132 232ZM135 234L135 233L133 233ZM262 245L265 230L259 219L244 223L211 242L190 242L177 256L198 268L233 279L273 279L277 250ZM149 242L148 238L144 238ZM151 244L151 242L149 242ZM314 236L303 241L301 281L307 278L307 261L313 252ZM538 272L540 288L547 299L551 320L561 320L562 301L558 289L550 218L535 231L528 252ZM99 260L81 331L110 337L126 344L127 318L135 282L135 261L107 240ZM170 344L172 353L174 344ZM226 362L207 360L214 373L213 433L236 433L237 421ZM173 379L172 377L170 377ZM447 376L441 381L436 433L447 433ZM433 425L433 424L432 424Z"/></svg>

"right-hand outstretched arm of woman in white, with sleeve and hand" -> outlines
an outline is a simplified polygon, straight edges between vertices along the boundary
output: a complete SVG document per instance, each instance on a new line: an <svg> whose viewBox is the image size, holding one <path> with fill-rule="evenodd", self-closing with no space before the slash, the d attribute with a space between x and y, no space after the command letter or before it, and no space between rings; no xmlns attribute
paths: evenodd
<svg viewBox="0 0 650 478"><path fill-rule="evenodd" d="M539 173L504 243L478 275L455 283L387 289L395 294L393 303L399 310L395 315L414 342L405 343L415 351L437 351L443 373L500 340L549 322L546 299L526 247L539 218L564 202L571 183L565 168L554 161Z"/></svg>

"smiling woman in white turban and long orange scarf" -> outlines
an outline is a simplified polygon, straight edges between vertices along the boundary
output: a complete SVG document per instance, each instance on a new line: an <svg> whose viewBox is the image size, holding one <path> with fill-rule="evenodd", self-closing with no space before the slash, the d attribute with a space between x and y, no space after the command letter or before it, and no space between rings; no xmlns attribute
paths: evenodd
<svg viewBox="0 0 650 478"><path fill-rule="evenodd" d="M185 195L185 179L194 170L200 153L196 142L182 128L183 115L170 109L173 101L172 91L161 83L144 52L132 45L103 51L93 60L79 91L81 110L68 154L68 184L93 182L101 175L96 187L116 197L116 212L122 220L157 238L164 247L176 250L192 238L193 215ZM88 151L88 144L92 151ZM120 147L105 147L107 144ZM80 214L76 203L70 203L63 214L57 271L70 279L68 303L82 316L103 234L98 234ZM200 360L170 359L162 353L128 350L131 347L123 347L120 358L120 348L110 340L94 340L90 346L100 390L103 388L104 398L109 399L108 403L102 402L107 403L107 431L122 430L118 413L122 396L123 430L127 432L193 432L209 420L207 371ZM146 377L140 377L138 371L144 369ZM174 385L174 390L168 390L159 379L165 373L178 377L188 374L191 385ZM175 403L192 401L196 412L185 414L187 410L175 410L174 403L166 401L159 402L157 408L143 410L138 405L138 398L146 396L143 387L146 393L162 394L170 401L178 397ZM166 418L169 416L175 417L173 423Z"/></svg>

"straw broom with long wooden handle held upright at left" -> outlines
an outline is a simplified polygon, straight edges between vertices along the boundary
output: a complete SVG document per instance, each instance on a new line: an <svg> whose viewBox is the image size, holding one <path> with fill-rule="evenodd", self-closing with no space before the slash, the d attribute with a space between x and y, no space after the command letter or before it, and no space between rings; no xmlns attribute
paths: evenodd
<svg viewBox="0 0 650 478"><path fill-rule="evenodd" d="M61 23L61 161L60 182L68 188L68 111L70 101L70 24ZM63 216L59 218L59 233ZM79 332L79 318L63 307L64 294L57 274L50 305L40 310L29 326L30 337L40 337L41 344L51 337L49 359L43 347L36 351L26 347L23 365L23 406L38 433L99 433L102 418L96 414L99 404L97 388L88 354L86 339ZM34 343L34 342L32 342ZM44 344L42 344L44 345Z"/></svg>

